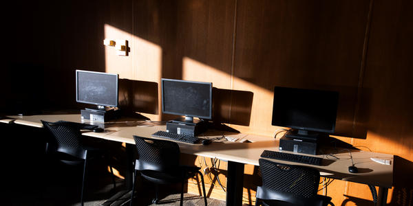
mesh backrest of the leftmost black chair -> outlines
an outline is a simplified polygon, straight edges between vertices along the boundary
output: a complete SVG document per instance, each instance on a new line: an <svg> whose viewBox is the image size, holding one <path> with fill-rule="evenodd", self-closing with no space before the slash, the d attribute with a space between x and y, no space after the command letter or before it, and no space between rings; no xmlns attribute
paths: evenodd
<svg viewBox="0 0 413 206"><path fill-rule="evenodd" d="M57 151L85 159L87 150L83 148L81 131L71 122L46 122L41 120L43 127L50 131L57 144Z"/></svg>

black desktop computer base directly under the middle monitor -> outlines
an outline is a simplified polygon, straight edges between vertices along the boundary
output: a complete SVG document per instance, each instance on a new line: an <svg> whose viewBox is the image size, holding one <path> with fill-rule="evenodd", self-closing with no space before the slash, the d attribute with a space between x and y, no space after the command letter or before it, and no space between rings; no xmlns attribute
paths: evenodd
<svg viewBox="0 0 413 206"><path fill-rule="evenodd" d="M204 121L198 123L193 122L178 122L178 121L168 121L167 122L167 132L176 133L180 135L192 135L196 136L207 130L207 124Z"/></svg>

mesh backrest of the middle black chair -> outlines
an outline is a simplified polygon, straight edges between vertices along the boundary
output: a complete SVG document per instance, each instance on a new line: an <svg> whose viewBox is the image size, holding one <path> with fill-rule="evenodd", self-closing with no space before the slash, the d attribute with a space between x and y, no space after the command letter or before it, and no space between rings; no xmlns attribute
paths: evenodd
<svg viewBox="0 0 413 206"><path fill-rule="evenodd" d="M173 141L149 139L134 135L138 159L136 170L156 170L159 172L174 172L179 166L180 150Z"/></svg>

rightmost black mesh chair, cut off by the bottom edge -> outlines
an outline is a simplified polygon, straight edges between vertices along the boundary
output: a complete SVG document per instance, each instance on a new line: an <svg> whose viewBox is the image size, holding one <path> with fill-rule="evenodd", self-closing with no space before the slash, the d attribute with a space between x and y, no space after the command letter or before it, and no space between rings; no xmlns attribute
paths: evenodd
<svg viewBox="0 0 413 206"><path fill-rule="evenodd" d="M317 194L318 170L266 159L259 162L262 187L257 187L256 205L333 205L330 197Z"/></svg>

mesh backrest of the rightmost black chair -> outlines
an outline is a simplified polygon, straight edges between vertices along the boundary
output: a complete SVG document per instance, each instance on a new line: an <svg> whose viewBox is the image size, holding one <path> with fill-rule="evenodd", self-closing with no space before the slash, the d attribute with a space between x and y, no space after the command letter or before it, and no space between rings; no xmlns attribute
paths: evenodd
<svg viewBox="0 0 413 206"><path fill-rule="evenodd" d="M290 192L313 198L317 195L320 173L314 168L285 165L260 159L262 185L268 190Z"/></svg>

